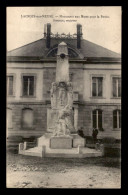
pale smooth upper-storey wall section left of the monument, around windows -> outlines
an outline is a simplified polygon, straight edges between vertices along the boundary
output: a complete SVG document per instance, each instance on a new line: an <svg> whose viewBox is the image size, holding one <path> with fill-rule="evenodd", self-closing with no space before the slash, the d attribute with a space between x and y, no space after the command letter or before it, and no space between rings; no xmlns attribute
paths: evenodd
<svg viewBox="0 0 128 195"><path fill-rule="evenodd" d="M41 67L42 64L35 63L11 63L7 64L7 75L14 76L14 95L8 96L8 102L30 102L33 101L41 101L43 99L43 69ZM35 76L35 95L32 98L24 97L22 90L22 76Z"/></svg>

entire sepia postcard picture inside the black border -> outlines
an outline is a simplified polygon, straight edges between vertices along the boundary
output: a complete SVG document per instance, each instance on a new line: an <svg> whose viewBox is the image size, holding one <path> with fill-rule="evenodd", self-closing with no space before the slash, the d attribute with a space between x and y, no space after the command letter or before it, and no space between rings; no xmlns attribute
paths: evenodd
<svg viewBox="0 0 128 195"><path fill-rule="evenodd" d="M6 7L6 188L121 188L121 6Z"/></svg>

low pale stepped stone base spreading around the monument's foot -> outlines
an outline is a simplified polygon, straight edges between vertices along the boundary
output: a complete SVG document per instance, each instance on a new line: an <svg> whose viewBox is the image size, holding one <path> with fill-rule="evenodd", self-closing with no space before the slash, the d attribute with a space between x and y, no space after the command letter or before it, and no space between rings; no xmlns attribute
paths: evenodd
<svg viewBox="0 0 128 195"><path fill-rule="evenodd" d="M26 149L24 147L24 144L19 144L19 154L27 155L27 156L38 156L38 157L55 157L55 158L86 158L86 157L99 157L102 156L102 151L96 150L96 149L90 149L87 148L83 142L83 138L81 138L78 135L72 135L73 139L64 138L62 137L59 139L59 137L51 137L50 134L46 134L40 138L38 138L38 145L34 148ZM80 137L81 145L75 145L75 147L71 147L71 144L73 146L73 141L75 138L78 141L78 138ZM51 144L51 140L52 144ZM57 140L58 139L58 140ZM63 141L63 143L61 141ZM67 146L67 145L68 146ZM77 143L78 144L78 143ZM64 148L63 148L64 147Z"/></svg>

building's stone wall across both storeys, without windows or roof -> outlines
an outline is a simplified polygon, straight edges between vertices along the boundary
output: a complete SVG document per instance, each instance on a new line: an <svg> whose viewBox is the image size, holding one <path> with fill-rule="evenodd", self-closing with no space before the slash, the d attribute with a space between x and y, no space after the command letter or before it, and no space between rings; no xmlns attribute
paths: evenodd
<svg viewBox="0 0 128 195"><path fill-rule="evenodd" d="M12 127L9 135L21 135L23 137L42 136L47 130L47 101L50 106L51 83L55 81L56 63L10 63L8 64L8 74L14 74L15 93L13 97L8 97L8 108L12 109ZM26 68L27 67L27 68ZM102 70L100 70L102 68ZM85 135L92 134L92 111L94 109L103 110L103 132L99 132L99 137L114 136L120 137L120 131L113 130L113 110L120 109L121 98L112 98L113 75L120 75L120 65L112 64L89 64L70 63L71 82L73 91L78 92L78 102L74 107L78 107L78 128L83 127ZM36 75L36 96L21 97L21 74ZM104 97L91 97L91 75L104 76ZM29 107L34 112L33 128L22 129L22 109ZM76 114L77 115L77 114ZM75 117L76 118L76 117Z"/></svg>

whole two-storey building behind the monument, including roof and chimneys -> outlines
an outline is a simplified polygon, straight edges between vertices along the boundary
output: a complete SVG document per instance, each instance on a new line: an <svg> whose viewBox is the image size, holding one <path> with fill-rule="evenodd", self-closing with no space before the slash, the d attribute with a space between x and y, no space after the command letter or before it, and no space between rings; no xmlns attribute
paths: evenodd
<svg viewBox="0 0 128 195"><path fill-rule="evenodd" d="M85 136L121 138L121 56L76 34L45 26L44 37L7 53L7 136L40 137L48 131L51 83L58 44L68 45L74 127Z"/></svg>

